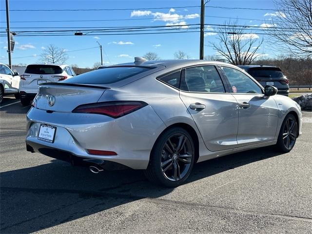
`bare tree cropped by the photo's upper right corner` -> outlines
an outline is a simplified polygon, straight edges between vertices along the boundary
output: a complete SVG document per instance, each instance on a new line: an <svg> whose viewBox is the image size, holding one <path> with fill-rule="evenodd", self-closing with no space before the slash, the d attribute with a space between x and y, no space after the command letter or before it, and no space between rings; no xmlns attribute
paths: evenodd
<svg viewBox="0 0 312 234"><path fill-rule="evenodd" d="M312 57L312 0L275 0L276 17L267 32L272 44L294 57Z"/></svg>

